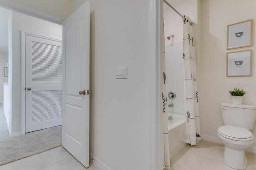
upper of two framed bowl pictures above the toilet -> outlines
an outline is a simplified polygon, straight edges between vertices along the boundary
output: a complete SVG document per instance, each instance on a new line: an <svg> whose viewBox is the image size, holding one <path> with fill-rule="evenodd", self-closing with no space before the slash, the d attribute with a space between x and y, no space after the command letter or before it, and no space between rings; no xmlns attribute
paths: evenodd
<svg viewBox="0 0 256 170"><path fill-rule="evenodd" d="M227 49L252 46L252 20L227 26Z"/></svg>

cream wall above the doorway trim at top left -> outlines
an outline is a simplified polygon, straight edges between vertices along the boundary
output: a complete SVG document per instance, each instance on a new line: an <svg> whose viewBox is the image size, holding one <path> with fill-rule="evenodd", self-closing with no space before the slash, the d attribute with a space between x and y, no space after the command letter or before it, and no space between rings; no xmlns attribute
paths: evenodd
<svg viewBox="0 0 256 170"><path fill-rule="evenodd" d="M72 0L12 0L19 4L57 16L62 20L72 14Z"/></svg>

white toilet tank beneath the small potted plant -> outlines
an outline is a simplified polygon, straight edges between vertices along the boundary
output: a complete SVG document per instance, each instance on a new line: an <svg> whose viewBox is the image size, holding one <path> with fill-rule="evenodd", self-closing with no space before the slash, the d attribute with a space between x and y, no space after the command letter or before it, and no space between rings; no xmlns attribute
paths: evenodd
<svg viewBox="0 0 256 170"><path fill-rule="evenodd" d="M256 119L256 106L244 104L220 104L224 125L252 130Z"/></svg>

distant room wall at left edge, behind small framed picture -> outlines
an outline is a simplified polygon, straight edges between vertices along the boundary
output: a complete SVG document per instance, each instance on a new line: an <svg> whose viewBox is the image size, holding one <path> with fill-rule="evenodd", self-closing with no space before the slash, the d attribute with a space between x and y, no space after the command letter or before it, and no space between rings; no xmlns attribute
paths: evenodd
<svg viewBox="0 0 256 170"><path fill-rule="evenodd" d="M4 67L7 67L8 55L0 53L0 103L3 103L3 83L8 82L8 77L4 77Z"/></svg>

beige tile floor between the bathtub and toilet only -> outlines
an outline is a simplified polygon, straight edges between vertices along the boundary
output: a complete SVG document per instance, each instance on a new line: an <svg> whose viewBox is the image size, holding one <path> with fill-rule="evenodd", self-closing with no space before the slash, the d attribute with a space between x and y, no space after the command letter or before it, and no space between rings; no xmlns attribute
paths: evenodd
<svg viewBox="0 0 256 170"><path fill-rule="evenodd" d="M200 141L196 146L187 145L171 159L171 170L234 170L222 161L224 146ZM246 170L256 170L256 154L246 152Z"/></svg>

